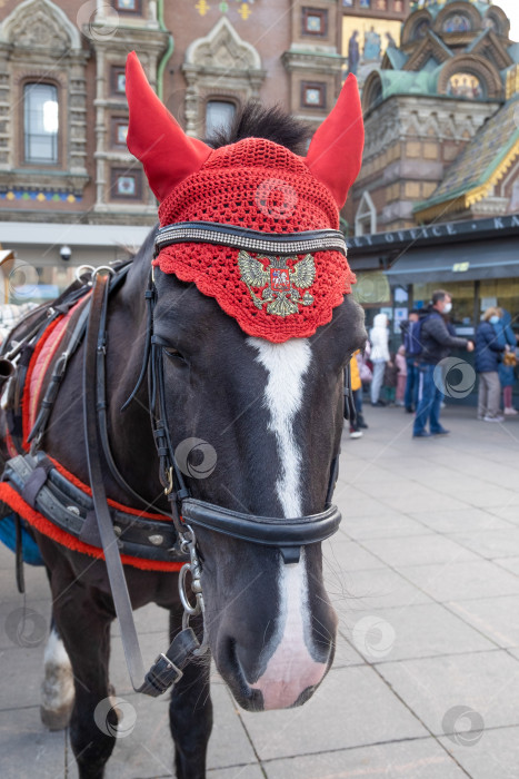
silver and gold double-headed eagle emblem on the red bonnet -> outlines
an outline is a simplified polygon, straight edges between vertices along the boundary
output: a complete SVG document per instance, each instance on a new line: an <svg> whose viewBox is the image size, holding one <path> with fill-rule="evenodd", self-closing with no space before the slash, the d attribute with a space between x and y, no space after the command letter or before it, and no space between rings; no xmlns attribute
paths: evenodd
<svg viewBox="0 0 519 779"><path fill-rule="evenodd" d="M267 268L260 262L261 259L269 260ZM238 255L241 280L247 284L252 302L260 310L266 305L268 314L290 316L298 313L298 304L310 306L313 303L313 296L308 292L316 278L313 257L307 254L292 268L287 265L289 259L296 260L297 257L267 255L256 259L243 249ZM263 287L260 297L252 287ZM306 290L302 296L300 289Z"/></svg>

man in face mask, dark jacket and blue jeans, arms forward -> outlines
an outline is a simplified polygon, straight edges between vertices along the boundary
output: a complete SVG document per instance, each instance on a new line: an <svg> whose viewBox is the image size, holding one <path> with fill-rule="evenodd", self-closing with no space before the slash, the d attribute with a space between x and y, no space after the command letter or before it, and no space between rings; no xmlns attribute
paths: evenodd
<svg viewBox="0 0 519 779"><path fill-rule="evenodd" d="M445 289L432 293L432 299L419 321L417 337L421 346L419 354L418 406L412 435L425 438L430 435L446 435L449 431L441 426L440 407L443 396L441 382L435 383L435 368L452 348L473 352L473 343L449 333L443 315L452 310L452 298ZM430 432L426 430L429 422Z"/></svg>

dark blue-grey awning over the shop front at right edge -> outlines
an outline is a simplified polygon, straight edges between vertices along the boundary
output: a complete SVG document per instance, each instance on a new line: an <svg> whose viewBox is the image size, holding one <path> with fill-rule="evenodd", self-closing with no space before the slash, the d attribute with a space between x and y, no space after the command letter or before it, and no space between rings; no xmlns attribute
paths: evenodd
<svg viewBox="0 0 519 779"><path fill-rule="evenodd" d="M508 238L449 247L411 247L386 273L392 286L519 278L519 241Z"/></svg>

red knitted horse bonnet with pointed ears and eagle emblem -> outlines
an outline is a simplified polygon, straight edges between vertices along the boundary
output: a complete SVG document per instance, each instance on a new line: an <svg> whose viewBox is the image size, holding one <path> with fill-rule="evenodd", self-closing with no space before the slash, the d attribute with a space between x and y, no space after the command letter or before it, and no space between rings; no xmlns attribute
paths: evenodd
<svg viewBox="0 0 519 779"><path fill-rule="evenodd" d="M320 240L307 250L297 238L339 229L338 209L358 175L363 146L355 77L348 78L306 158L262 138L213 150L188 137L150 88L134 52L127 61L127 96L128 147L160 200L162 233L176 226L189 234L163 248L159 243L153 265L193 282L252 336L281 343L308 337L328 323L355 276L332 238L333 248L327 250L319 250L326 246ZM207 243L200 230L211 230L214 223L220 230L246 228L250 248L242 239L238 247ZM296 239L290 255L254 250L257 240L277 241L277 235Z"/></svg>

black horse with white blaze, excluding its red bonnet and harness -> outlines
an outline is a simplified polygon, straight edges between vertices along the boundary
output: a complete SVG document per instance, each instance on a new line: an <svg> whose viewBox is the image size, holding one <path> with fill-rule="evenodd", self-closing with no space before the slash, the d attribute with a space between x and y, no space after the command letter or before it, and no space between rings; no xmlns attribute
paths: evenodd
<svg viewBox="0 0 519 779"><path fill-rule="evenodd" d="M300 150L305 130L279 111L246 112L236 144L260 136ZM158 479L159 461L143 382L126 411L142 366L146 302L153 230L134 257L108 308L107 387L110 445L119 471L150 504L168 510ZM193 246L193 252L197 247ZM351 295L310 337L270 343L252 337L213 297L159 268L153 333L163 346L167 418L173 446L188 438L209 442L216 467L190 479L196 499L251 515L295 517L322 511L343 418L343 369L366 339L363 315ZM81 345L68 366L46 436L46 452L88 483L81 417ZM107 494L126 505L130 495L107 470ZM320 543L301 549L286 564L279 549L199 527L206 629L216 665L236 700L249 710L302 703L333 659L337 618L322 583ZM81 779L98 779L114 736L94 721L108 679L110 624L114 609L103 561L72 552L37 533L53 599L53 617L74 681L70 721ZM133 608L154 602L170 612L171 635L182 605L177 574L126 566ZM200 623L194 623L198 633ZM53 639L57 644L57 639ZM54 647L56 649L56 647ZM61 660L54 667L66 663ZM56 671L56 668L54 668ZM56 701L54 701L56 703ZM111 713L113 724L116 714ZM209 665L192 662L174 687L170 724L180 779L204 776L211 731Z"/></svg>

